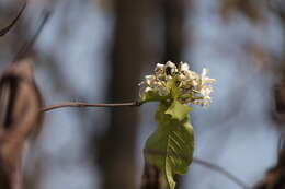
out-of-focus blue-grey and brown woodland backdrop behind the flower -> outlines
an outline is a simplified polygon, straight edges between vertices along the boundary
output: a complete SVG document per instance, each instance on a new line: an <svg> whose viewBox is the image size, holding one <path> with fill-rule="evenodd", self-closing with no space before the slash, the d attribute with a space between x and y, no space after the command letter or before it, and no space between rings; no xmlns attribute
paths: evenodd
<svg viewBox="0 0 285 189"><path fill-rule="evenodd" d="M23 1L0 0L0 26ZM219 165L250 188L277 162L285 122L284 0L31 0L0 38L1 70L41 24L31 50L46 105L123 103L158 62L209 68L217 80L209 108L194 107L194 156ZM135 108L65 108L45 114L25 155L29 189L134 189L142 149L156 129L157 104ZM179 189L238 189L193 163Z"/></svg>

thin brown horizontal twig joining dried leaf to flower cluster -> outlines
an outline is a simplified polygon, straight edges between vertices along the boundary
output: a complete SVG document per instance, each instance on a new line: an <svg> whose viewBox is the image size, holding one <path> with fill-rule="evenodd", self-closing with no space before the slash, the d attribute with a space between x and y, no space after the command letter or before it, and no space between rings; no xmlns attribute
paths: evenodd
<svg viewBox="0 0 285 189"><path fill-rule="evenodd" d="M115 104L89 104L89 103L81 103L81 102L68 102L62 103L58 105L50 105L47 107L44 107L42 109L42 113L59 109L59 108L66 108L66 107L79 107L79 108L87 108L87 107L126 107L126 106L140 106L140 102L130 102L130 103L115 103Z"/></svg>

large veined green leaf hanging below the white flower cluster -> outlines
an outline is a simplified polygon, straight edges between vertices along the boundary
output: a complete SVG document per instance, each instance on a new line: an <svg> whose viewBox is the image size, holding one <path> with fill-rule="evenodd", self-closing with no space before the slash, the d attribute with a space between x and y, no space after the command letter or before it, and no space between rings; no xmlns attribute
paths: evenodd
<svg viewBox="0 0 285 189"><path fill-rule="evenodd" d="M183 114L186 111L183 110L184 107L175 104L169 111L174 113L175 109ZM149 137L145 146L146 160L160 168L169 189L175 188L173 179L175 174L186 173L194 151L194 131L189 122L189 115L186 114L183 119L176 119L166 114L172 105L160 103L156 114L158 129ZM182 116L179 117L182 118Z"/></svg>

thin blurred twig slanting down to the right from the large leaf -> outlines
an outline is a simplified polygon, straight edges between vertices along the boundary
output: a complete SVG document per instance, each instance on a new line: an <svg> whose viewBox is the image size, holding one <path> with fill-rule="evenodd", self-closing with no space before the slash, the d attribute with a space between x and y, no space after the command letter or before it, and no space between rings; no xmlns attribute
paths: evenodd
<svg viewBox="0 0 285 189"><path fill-rule="evenodd" d="M228 170L226 170L225 168L223 168L218 165L200 160L197 157L193 158L193 163L205 166L209 169L213 169L213 170L226 176L227 178L229 178L230 180L232 180L235 184L237 184L238 186L240 186L243 189L250 189L250 187L248 185L246 185L243 181L241 181L238 177L236 177L235 175L232 175L231 173L229 173Z"/></svg>

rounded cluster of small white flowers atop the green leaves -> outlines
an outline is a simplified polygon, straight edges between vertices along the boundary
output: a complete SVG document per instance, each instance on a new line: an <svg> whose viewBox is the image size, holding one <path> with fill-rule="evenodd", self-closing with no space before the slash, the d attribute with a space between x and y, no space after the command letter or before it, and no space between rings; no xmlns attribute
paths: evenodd
<svg viewBox="0 0 285 189"><path fill-rule="evenodd" d="M161 97L178 98L182 104L193 103L207 106L210 103L209 94L213 88L209 85L215 79L207 76L208 70L203 69L201 75L189 69L189 64L181 62L178 66L168 61L158 63L153 75L146 75L140 83L142 94L153 92Z"/></svg>

